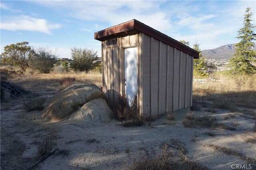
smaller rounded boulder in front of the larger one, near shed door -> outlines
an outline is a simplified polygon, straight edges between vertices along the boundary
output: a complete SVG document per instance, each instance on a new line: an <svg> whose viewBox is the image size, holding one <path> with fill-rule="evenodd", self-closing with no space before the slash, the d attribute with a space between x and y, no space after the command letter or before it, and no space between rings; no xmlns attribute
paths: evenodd
<svg viewBox="0 0 256 170"><path fill-rule="evenodd" d="M78 111L72 113L68 122L75 122L81 127L95 127L102 123L109 123L112 114L113 112L108 107L107 102L102 98L98 98L87 102Z"/></svg>

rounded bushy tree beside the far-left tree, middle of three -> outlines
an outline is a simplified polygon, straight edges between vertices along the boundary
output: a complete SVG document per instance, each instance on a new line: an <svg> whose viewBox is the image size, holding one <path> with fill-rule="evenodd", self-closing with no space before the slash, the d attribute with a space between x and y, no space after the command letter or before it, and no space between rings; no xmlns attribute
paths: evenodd
<svg viewBox="0 0 256 170"><path fill-rule="evenodd" d="M46 48L38 48L30 57L30 67L40 73L50 73L55 63L56 55Z"/></svg>

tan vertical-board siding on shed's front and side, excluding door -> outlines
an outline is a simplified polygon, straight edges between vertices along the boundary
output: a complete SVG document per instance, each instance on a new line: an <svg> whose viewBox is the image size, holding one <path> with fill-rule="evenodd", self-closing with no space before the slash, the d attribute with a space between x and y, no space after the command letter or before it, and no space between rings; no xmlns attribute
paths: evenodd
<svg viewBox="0 0 256 170"><path fill-rule="evenodd" d="M110 104L124 94L124 48L137 47L137 96L146 117L192 106L193 57L144 33L102 41L103 92Z"/></svg>

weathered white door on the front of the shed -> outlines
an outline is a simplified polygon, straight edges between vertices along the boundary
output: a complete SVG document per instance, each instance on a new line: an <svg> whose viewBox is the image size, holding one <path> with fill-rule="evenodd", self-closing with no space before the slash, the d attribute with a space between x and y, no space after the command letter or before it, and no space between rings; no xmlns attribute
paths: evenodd
<svg viewBox="0 0 256 170"><path fill-rule="evenodd" d="M124 49L124 90L131 104L137 93L137 47Z"/></svg>

